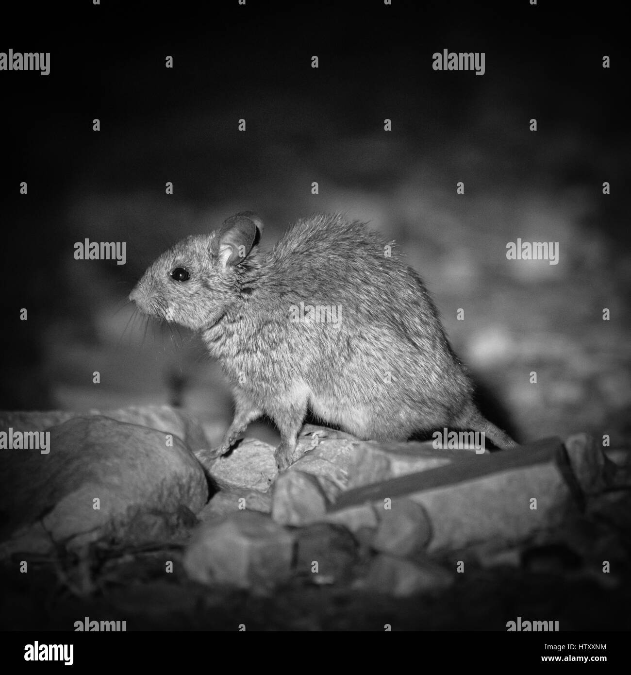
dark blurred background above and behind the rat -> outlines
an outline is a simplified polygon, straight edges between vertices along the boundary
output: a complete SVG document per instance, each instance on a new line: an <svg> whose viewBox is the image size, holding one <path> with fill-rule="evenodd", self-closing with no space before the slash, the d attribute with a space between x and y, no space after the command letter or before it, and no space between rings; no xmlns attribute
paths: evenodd
<svg viewBox="0 0 631 675"><path fill-rule="evenodd" d="M231 415L218 365L188 331L134 320L130 290L167 246L237 211L263 216L263 246L344 211L400 242L494 421L522 441L624 444L630 132L614 6L15 8L0 50L49 51L51 74L0 72L0 408L180 404L217 441ZM485 75L434 71L443 49L485 52ZM126 265L75 260L85 238L126 242ZM518 238L558 242L559 264L508 261ZM275 440L265 423L248 435Z"/></svg>

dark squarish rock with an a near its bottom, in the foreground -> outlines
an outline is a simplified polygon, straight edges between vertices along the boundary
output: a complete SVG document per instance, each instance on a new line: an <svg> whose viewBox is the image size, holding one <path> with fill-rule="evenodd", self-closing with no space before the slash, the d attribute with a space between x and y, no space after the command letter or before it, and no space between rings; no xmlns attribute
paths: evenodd
<svg viewBox="0 0 631 675"><path fill-rule="evenodd" d="M341 525L325 522L296 530L296 572L316 584L350 578L357 558L357 542Z"/></svg>

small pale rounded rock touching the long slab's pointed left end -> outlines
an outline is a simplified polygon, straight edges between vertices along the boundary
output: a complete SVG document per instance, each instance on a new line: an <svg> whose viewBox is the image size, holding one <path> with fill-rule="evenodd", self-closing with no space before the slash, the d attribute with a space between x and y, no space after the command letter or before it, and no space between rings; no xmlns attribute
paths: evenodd
<svg viewBox="0 0 631 675"><path fill-rule="evenodd" d="M321 481L308 473L288 470L279 475L272 495L272 517L282 525L305 525L322 520L327 497Z"/></svg>

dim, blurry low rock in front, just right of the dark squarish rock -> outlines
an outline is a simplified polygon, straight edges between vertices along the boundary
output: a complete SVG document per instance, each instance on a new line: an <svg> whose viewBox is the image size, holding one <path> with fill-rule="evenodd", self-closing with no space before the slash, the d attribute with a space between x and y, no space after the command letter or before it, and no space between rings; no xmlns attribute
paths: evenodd
<svg viewBox="0 0 631 675"><path fill-rule="evenodd" d="M454 583L454 575L431 563L417 565L409 560L380 553L358 588L406 597L414 593L445 589Z"/></svg>

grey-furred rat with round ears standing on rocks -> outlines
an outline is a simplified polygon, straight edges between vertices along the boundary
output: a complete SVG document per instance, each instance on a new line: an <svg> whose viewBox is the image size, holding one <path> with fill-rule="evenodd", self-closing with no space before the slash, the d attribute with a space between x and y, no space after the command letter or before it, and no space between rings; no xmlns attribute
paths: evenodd
<svg viewBox="0 0 631 675"><path fill-rule="evenodd" d="M200 333L234 394L234 419L213 456L267 414L292 463L308 409L363 440L434 431L515 441L473 401L473 384L437 308L395 242L343 215L299 219L265 252L253 211L177 242L130 294L141 313Z"/></svg>

